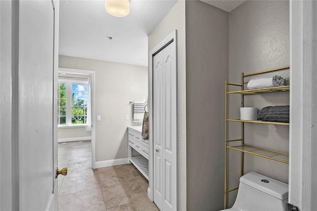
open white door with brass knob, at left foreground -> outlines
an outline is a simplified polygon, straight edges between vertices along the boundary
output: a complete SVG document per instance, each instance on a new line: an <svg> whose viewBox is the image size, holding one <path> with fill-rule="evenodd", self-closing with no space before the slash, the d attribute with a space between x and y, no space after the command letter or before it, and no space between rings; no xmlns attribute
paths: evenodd
<svg viewBox="0 0 317 211"><path fill-rule="evenodd" d="M19 209L57 210L53 2L20 0L18 11Z"/></svg>

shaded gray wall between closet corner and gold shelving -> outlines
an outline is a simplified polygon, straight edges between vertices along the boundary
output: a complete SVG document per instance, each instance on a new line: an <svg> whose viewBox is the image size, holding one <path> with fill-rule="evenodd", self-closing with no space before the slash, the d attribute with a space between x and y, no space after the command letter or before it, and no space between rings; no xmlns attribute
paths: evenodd
<svg viewBox="0 0 317 211"><path fill-rule="evenodd" d="M228 12L186 1L187 210L223 209Z"/></svg>

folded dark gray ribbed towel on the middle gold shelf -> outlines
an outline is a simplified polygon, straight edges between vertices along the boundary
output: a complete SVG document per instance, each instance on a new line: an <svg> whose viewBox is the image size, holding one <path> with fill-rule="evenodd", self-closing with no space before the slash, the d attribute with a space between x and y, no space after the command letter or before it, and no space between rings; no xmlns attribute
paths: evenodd
<svg viewBox="0 0 317 211"><path fill-rule="evenodd" d="M258 113L258 120L269 122L289 122L289 106L267 106Z"/></svg>

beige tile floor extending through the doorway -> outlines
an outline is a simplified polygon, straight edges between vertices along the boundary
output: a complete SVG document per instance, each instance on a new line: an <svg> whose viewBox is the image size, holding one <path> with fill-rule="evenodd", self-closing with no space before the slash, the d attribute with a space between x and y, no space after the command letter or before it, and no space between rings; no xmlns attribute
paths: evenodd
<svg viewBox="0 0 317 211"><path fill-rule="evenodd" d="M91 168L91 142L58 144L59 211L159 211L148 199L148 180L132 164Z"/></svg>

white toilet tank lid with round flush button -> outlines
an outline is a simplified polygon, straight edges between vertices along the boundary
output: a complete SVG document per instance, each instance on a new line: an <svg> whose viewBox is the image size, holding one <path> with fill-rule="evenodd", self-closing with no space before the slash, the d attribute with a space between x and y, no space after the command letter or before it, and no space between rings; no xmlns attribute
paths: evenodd
<svg viewBox="0 0 317 211"><path fill-rule="evenodd" d="M267 176L255 172L249 172L240 177L240 182L277 199L284 200L288 198L288 184Z"/></svg>

